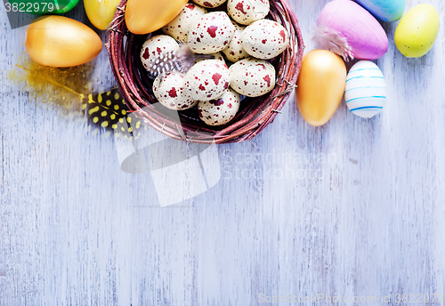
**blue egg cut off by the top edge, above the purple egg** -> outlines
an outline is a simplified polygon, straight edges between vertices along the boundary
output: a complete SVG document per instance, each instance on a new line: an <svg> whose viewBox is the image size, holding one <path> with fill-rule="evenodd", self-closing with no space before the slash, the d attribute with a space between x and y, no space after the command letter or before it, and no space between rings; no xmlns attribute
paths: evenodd
<svg viewBox="0 0 445 306"><path fill-rule="evenodd" d="M405 12L405 0L356 0L371 12L376 19L394 22L401 19Z"/></svg>

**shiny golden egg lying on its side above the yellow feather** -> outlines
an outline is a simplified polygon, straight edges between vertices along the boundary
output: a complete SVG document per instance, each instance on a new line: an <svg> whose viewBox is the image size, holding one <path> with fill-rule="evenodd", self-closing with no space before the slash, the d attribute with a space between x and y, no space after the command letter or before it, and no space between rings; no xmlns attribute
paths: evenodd
<svg viewBox="0 0 445 306"><path fill-rule="evenodd" d="M93 60L102 50L101 37L77 20L42 16L28 26L25 48L44 66L72 67Z"/></svg>

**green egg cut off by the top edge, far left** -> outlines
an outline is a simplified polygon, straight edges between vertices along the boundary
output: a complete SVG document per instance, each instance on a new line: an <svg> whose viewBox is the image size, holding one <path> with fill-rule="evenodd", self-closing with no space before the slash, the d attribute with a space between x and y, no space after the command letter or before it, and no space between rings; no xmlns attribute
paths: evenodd
<svg viewBox="0 0 445 306"><path fill-rule="evenodd" d="M61 14L71 11L79 0L8 0L15 12L28 12L35 15Z"/></svg>

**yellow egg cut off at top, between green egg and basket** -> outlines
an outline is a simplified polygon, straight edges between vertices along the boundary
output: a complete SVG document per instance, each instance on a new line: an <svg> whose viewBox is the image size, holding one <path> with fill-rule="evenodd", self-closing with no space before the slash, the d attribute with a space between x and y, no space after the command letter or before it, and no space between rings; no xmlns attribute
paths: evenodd
<svg viewBox="0 0 445 306"><path fill-rule="evenodd" d="M84 0L85 12L93 26L99 29L109 28L117 10L119 0Z"/></svg>

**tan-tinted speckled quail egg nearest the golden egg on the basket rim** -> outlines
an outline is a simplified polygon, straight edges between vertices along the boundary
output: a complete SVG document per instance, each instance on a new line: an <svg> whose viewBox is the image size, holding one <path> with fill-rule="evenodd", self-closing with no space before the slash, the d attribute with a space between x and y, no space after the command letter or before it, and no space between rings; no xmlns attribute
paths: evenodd
<svg viewBox="0 0 445 306"><path fill-rule="evenodd" d="M207 10L196 4L185 4L182 11L162 27L162 32L182 42L187 42L191 26L206 14Z"/></svg>

